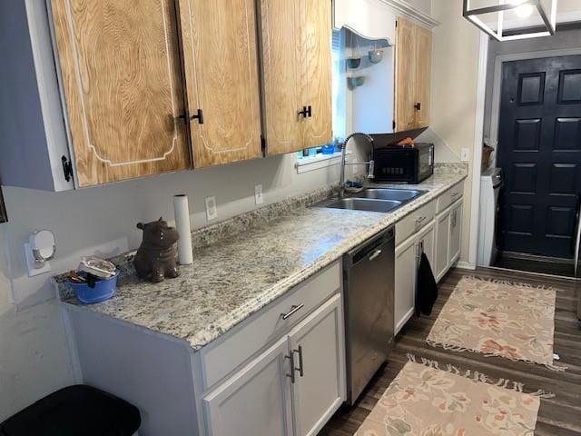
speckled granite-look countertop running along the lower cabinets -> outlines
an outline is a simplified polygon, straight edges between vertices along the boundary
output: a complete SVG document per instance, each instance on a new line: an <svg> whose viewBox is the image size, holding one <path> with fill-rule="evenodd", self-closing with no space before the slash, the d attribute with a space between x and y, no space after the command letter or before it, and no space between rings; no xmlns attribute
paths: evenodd
<svg viewBox="0 0 581 436"><path fill-rule="evenodd" d="M278 218L222 234L206 246L194 244L193 264L181 266L176 279L151 283L122 273L106 302L84 305L64 289L62 276L55 283L65 304L171 335L199 350L467 176L464 165L444 169L418 185L397 185L428 192L392 213L287 208Z"/></svg>

